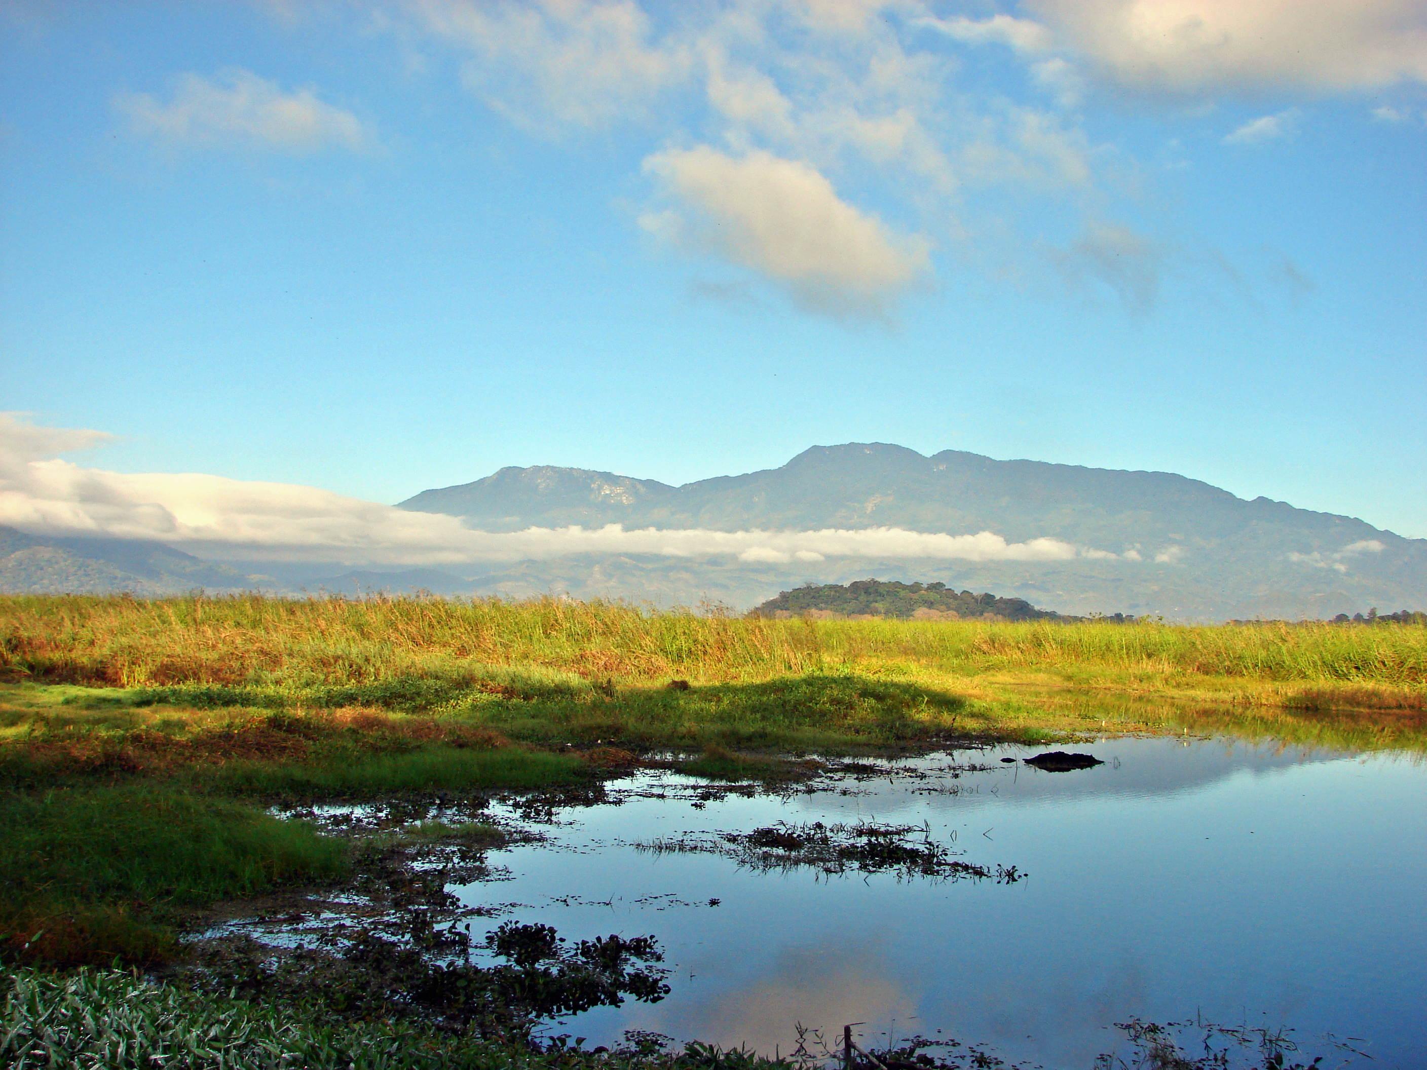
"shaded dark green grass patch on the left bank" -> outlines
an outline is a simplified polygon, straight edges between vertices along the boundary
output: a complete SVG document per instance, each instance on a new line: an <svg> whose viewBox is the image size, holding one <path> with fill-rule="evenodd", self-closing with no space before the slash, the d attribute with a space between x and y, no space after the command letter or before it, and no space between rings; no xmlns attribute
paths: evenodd
<svg viewBox="0 0 1427 1070"><path fill-rule="evenodd" d="M0 939L33 957L154 960L171 919L347 872L344 843L227 799L144 783L0 795Z"/></svg>

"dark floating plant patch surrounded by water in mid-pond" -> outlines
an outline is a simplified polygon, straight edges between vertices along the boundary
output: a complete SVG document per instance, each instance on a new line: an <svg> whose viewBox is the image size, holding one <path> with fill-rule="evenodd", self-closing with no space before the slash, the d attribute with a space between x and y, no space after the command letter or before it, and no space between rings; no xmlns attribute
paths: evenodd
<svg viewBox="0 0 1427 1070"><path fill-rule="evenodd" d="M926 825L778 822L752 832L672 836L635 847L651 853L723 855L759 872L815 869L829 876L895 873L902 877L995 879L1005 885L1026 876L1015 866L989 869L963 862L950 847L933 840Z"/></svg>

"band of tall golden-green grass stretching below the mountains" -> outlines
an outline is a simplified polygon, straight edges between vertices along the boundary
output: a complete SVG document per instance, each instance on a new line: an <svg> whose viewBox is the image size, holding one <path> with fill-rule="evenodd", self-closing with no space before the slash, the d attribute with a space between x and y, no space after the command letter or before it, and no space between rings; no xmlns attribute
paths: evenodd
<svg viewBox="0 0 1427 1070"><path fill-rule="evenodd" d="M535 599L0 598L0 672L54 682L753 682L869 663L1427 686L1427 626L772 621ZM558 679L558 678L557 678Z"/></svg>

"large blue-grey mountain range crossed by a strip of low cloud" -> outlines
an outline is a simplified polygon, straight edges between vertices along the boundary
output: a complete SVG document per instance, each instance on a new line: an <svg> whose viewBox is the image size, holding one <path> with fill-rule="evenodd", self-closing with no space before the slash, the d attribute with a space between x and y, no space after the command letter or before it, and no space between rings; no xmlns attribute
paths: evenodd
<svg viewBox="0 0 1427 1070"><path fill-rule="evenodd" d="M495 589L606 591L652 601L682 591L674 601L714 595L748 606L805 579L845 584L880 575L999 591L1072 613L1293 618L1427 602L1424 539L1269 498L1246 501L1167 472L995 461L950 449L923 457L882 444L816 447L782 468L684 486L577 468L502 468L401 505L464 516L488 531L571 524L718 531L899 526L993 531L1013 542L1052 536L1140 558L792 566L622 558L602 566L599 582L592 574L586 581L567 559L502 569L485 578ZM628 585L611 584L611 572Z"/></svg>

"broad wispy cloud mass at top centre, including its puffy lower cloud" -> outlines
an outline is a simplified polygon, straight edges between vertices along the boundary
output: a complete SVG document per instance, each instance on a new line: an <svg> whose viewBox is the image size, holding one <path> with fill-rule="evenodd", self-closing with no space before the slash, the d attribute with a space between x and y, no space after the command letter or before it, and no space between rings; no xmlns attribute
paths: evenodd
<svg viewBox="0 0 1427 1070"><path fill-rule="evenodd" d="M1019 213L1039 233L1047 211L1079 217L1102 184L1103 157L1077 117L959 84L948 43L999 43L1036 64L1033 86L1060 104L1079 98L1079 71L1046 51L1049 30L1005 13L935 19L922 0L410 0L395 10L407 17L390 24L452 49L471 91L527 130L654 134L666 148L645 153L654 203L641 225L823 315L886 318L935 274L936 248L983 240L1032 255ZM714 173L728 191L702 181ZM977 213L973 198L1002 187L1029 187L1035 200ZM775 230L786 251L769 241ZM816 264L815 245L828 254Z"/></svg>

